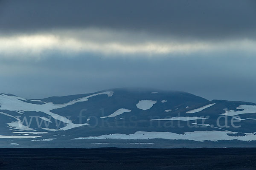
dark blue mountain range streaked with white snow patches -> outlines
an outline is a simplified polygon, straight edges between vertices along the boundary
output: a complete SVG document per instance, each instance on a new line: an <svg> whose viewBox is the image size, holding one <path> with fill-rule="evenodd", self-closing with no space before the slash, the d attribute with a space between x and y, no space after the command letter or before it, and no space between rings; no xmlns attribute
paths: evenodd
<svg viewBox="0 0 256 170"><path fill-rule="evenodd" d="M0 147L253 147L256 104L116 88L23 99L0 94Z"/></svg>

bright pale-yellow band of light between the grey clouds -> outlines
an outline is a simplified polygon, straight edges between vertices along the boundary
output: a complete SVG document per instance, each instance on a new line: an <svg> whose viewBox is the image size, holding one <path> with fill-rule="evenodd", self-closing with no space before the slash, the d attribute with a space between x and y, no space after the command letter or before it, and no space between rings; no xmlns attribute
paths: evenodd
<svg viewBox="0 0 256 170"><path fill-rule="evenodd" d="M253 40L178 41L149 34L84 29L0 37L0 57L40 57L45 51L98 53L104 56L191 54L208 51L256 52ZM22 54L22 55L21 55Z"/></svg>

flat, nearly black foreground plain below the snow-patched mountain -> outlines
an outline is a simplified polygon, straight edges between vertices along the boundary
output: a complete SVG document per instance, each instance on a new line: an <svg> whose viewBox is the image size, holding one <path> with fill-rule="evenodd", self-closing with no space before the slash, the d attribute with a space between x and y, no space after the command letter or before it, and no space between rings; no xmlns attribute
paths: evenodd
<svg viewBox="0 0 256 170"><path fill-rule="evenodd" d="M256 148L0 149L0 170L256 170Z"/></svg>

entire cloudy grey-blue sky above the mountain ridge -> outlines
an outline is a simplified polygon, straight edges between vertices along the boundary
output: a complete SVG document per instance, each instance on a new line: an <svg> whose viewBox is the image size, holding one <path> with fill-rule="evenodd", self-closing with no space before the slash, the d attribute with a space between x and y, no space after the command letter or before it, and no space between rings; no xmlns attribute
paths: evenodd
<svg viewBox="0 0 256 170"><path fill-rule="evenodd" d="M0 0L0 92L145 87L256 103L255 0Z"/></svg>

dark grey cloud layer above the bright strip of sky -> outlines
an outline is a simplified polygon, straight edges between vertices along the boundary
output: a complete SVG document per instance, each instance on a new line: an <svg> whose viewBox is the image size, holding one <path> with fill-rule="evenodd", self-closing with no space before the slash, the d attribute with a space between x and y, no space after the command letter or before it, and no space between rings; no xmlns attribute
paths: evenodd
<svg viewBox="0 0 256 170"><path fill-rule="evenodd" d="M255 0L1 0L0 31L112 28L179 38L256 37Z"/></svg>

